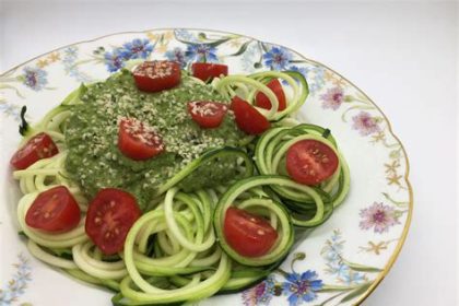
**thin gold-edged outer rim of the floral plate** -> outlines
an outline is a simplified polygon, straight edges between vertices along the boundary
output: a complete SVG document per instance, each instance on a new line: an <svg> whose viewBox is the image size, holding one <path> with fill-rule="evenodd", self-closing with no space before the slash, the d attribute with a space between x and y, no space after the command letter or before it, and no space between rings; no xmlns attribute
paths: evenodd
<svg viewBox="0 0 459 306"><path fill-rule="evenodd" d="M411 221L412 221L412 215L413 215L413 207L414 207L414 201L413 201L413 187L412 187L412 185L410 183L410 179L409 179L409 175L410 175L410 158L408 156L407 150L405 150L403 143L401 142L400 138L398 136L396 136L396 133L393 132L392 123L390 122L389 118L381 110L381 108L361 87L358 87L357 85L355 85L353 82L351 82L349 79L346 79L341 73L337 72L334 69L330 68L327 64L323 64L320 61L310 59L310 58L304 56L303 52L298 52L297 50L295 50L293 48L290 48L290 47L286 47L284 45L276 44L276 43L261 40L261 39L258 39L256 37L252 37L252 36L246 35L246 34L238 34L238 33L234 33L234 32L229 32L229 31L202 28L202 27L152 27L152 28L146 28L146 30L142 30L142 31L116 32L116 33L111 33L111 34L102 35L102 36L98 36L98 37L95 37L95 38L92 38L92 39L84 39L84 40L79 40L79 42L75 42L75 43L72 43L72 44L69 44L69 45L63 45L63 46L60 46L58 48L51 49L49 51L46 51L44 54L40 54L38 56L35 56L33 58L30 58L26 61L21 62L21 63L14 66L14 67L8 69L7 71L0 73L0 76L5 76L7 74L9 74L9 73L11 73L11 72L13 72L15 70L17 70L20 67L22 67L22 66L24 66L26 63L30 63L30 62L32 62L32 61L34 61L34 60L36 60L36 59L38 59L38 58L40 58L40 57L43 57L45 55L48 55L48 54L51 54L54 51L57 51L57 50L60 50L60 49L63 49L63 48L68 48L68 47L74 46L74 45L81 45L81 44L86 44L86 43L94 43L96 40L104 39L104 38L107 38L107 37L110 37L110 36L117 36L117 35L140 34L140 33L146 33L146 32L174 31L174 30L202 31L202 32L213 32L213 33L221 33L221 34L238 35L238 36L242 36L242 37L255 39L257 42L263 42L263 43L267 43L267 44L271 44L271 45L275 45L275 46L280 46L282 48L285 48L285 49L287 49L287 50L290 50L290 51L292 51L294 54L297 54L302 58L304 58L304 59L306 59L306 60L308 60L308 61L310 61L313 63L319 64L319 66L321 66L321 67L330 70L331 72L333 72L337 75L339 75L340 78L342 78L351 86L353 86L356 90L358 90L375 106L375 108L382 115L384 119L387 122L387 128L388 128L389 133L397 140L398 143L400 143L401 150L402 150L403 155L404 155L405 172L404 172L403 179L407 183L407 187L408 187L409 208L408 208L407 221L405 221L405 224L403 226L403 231L401 233L400 239L399 239L399 242L398 242L398 244L397 244L397 246L396 246L392 255L390 256L389 260L385 264L382 271L380 271L377 274L377 276L373 281L372 285L356 301L356 304L355 305L361 305L369 295L372 295L372 293L378 287L378 285L382 282L382 280L389 274L391 268L393 267L395 262L397 261L397 259L398 259L398 257L399 257L399 255L401 252L401 249L403 248L403 245L404 245L404 243L407 240L407 237L408 237L408 233L409 233L409 229L410 229L410 226L411 226Z"/></svg>

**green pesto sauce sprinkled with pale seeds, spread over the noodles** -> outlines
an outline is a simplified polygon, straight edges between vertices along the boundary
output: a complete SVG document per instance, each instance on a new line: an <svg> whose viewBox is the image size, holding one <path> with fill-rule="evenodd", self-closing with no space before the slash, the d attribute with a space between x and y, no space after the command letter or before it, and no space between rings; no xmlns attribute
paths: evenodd
<svg viewBox="0 0 459 306"><path fill-rule="evenodd" d="M228 103L211 85L184 76L181 83L160 93L140 92L129 71L89 86L83 104L71 106L67 122L66 169L89 197L102 188L131 192L145 208L155 189L199 157L220 146L240 146L246 136L238 130L228 110L215 129L201 129L190 117L190 101ZM137 118L163 138L165 152L146 161L133 161L118 150L118 120ZM203 165L183 180L187 191L227 183L236 175L234 160Z"/></svg>

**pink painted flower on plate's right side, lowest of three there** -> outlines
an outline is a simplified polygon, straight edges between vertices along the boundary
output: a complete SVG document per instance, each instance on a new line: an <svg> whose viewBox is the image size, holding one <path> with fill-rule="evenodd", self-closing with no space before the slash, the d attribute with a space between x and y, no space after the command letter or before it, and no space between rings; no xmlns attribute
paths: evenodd
<svg viewBox="0 0 459 306"><path fill-rule="evenodd" d="M362 229L374 228L375 233L389 231L390 226L400 224L397 211L384 203L374 202L373 205L361 210L362 220L360 226Z"/></svg>

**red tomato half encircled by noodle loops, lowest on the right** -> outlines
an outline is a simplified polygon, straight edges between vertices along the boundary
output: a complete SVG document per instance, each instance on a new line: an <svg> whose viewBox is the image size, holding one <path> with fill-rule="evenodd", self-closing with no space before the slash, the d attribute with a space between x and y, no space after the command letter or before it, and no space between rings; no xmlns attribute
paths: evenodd
<svg viewBox="0 0 459 306"><path fill-rule="evenodd" d="M266 255L278 239L278 232L267 220L237 208L226 210L223 232L228 245L246 257Z"/></svg>

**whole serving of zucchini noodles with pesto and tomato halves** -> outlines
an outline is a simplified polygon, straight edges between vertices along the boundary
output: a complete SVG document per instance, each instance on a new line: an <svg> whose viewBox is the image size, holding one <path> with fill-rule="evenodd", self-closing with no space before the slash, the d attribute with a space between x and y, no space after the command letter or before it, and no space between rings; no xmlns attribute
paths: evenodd
<svg viewBox="0 0 459 306"><path fill-rule="evenodd" d="M350 188L331 131L295 119L307 95L295 71L163 60L82 84L36 125L23 118L10 164L30 251L113 290L114 305L260 282L295 227L325 222Z"/></svg>

